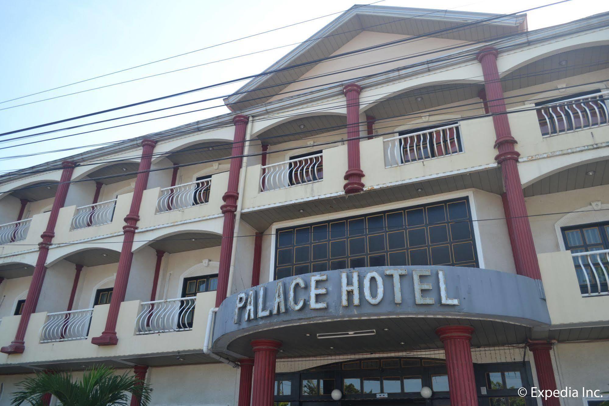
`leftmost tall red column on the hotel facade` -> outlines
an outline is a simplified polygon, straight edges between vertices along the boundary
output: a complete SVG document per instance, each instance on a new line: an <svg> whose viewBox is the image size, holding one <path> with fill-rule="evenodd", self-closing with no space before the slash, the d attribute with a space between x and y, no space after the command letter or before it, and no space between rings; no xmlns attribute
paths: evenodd
<svg viewBox="0 0 609 406"><path fill-rule="evenodd" d="M23 354L23 351L26 349L23 339L26 337L27 324L38 304L38 297L40 296L44 275L46 274L46 266L44 266L46 264L46 257L49 255L51 241L53 240L53 237L55 237L57 216L59 215L59 209L62 208L63 204L66 202L66 195L68 194L72 172L74 172L76 163L65 161L62 163L62 166L62 177L59 180L57 193L55 193L51 215L49 215L49 221L46 223L46 230L40 235L40 237L42 237L42 242L38 244L38 260L36 261L36 266L34 268L32 282L30 282L30 287L27 291L26 303L23 305L23 313L21 313L21 318L19 319L15 340L13 340L10 345L0 349L0 351L5 354Z"/></svg>

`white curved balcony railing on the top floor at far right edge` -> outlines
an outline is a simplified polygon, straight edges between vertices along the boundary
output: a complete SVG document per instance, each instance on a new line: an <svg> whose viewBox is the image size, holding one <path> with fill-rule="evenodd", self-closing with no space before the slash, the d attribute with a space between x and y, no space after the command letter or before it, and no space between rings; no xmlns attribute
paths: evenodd
<svg viewBox="0 0 609 406"><path fill-rule="evenodd" d="M608 95L609 91L601 91L583 98L540 106L537 109L537 118L541 135L547 137L606 125L609 111L605 98Z"/></svg>

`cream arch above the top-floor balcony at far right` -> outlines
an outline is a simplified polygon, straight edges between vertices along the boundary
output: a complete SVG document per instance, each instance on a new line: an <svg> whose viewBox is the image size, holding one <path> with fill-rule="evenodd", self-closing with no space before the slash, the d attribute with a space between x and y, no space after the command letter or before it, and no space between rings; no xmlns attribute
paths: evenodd
<svg viewBox="0 0 609 406"><path fill-rule="evenodd" d="M593 46L609 45L609 40L596 40L594 38L594 34L597 33L593 32L581 38L576 38L575 40L571 39L570 41L554 41L552 43L544 42L535 46L530 46L528 49L515 51L512 53L499 53L497 60L499 77L507 76L516 69L522 68L530 63L537 62L538 60L561 54L563 52L591 48ZM570 43L570 45L565 46L565 43ZM546 49L546 51L541 54L537 53L542 46L543 49Z"/></svg>

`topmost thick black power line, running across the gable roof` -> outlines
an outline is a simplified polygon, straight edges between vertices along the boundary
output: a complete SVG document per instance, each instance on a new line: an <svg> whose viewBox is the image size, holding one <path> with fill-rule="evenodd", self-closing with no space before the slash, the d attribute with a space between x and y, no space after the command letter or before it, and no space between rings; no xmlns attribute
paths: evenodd
<svg viewBox="0 0 609 406"><path fill-rule="evenodd" d="M551 5L561 4L563 2L568 2L568 1L571 1L571 0L560 0L560 1L557 1L557 2L554 2L554 3L551 3L551 4L541 5L541 6L538 6L538 7L532 7L530 9L522 10L522 11L515 12L515 13L508 13L508 14L504 14L504 15L493 16L493 17L490 17L490 18L484 18L482 20L477 20L477 21L474 21L474 22L471 22L471 23L461 24L461 26L451 27L451 28L448 28L448 29L440 29L440 30L437 30L435 32L431 32L431 33L428 33L428 34L425 34L425 35L418 35L418 36L415 35L415 36L409 37L409 38L401 38L400 40L389 41L387 43L382 43L382 44L379 44L379 45L368 46L368 47L356 49L356 50L353 50L353 51L343 52L341 54L330 55L328 57L312 60L312 61L309 61L309 62L303 62L303 63L298 63L298 64L295 64L295 65L284 66L283 68L271 69L270 71L264 71L264 72L259 73L259 74L253 74L253 75L249 75L249 76L244 76L244 77L241 77L241 78L238 78L238 79L226 80L224 82L220 82L220 83L217 83L217 84L208 85L208 86L205 86L205 87L195 88L195 89L186 90L186 91L181 91L181 92L178 92L178 93L169 94L167 96L161 96L159 98L153 98L153 99L148 99L148 100L141 101L141 102L136 102L136 103L131 103L131 104L127 104L127 105L122 105L122 106L119 106L119 107L113 107L111 109L100 110L98 112L87 113L85 115L74 116L74 117L71 117L71 118L61 119L61 120L53 121L53 122L50 122L50 123L38 124L37 126L31 126L31 127L26 127L26 128L23 128L23 129L12 130L12 131L9 131L9 132L0 133L0 136L2 136L2 135L16 134L18 132L23 132L23 131L27 131L27 130L32 130L32 129L37 129L37 128L41 128L41 127L51 126L51 125L54 125L54 124L66 123L68 121L73 121L75 119L86 118L86 117L90 117L90 116L100 115L100 114L103 114L103 113L114 112L116 110L127 109L128 107L135 107L137 105L147 104L147 103L155 102L155 101L161 101L161 100L168 99L168 98L174 98L174 97L177 97L177 96L182 96L184 94L194 93L195 91L201 91L201 90L206 90L206 89L209 89L209 88L218 87L218 86L221 86L221 85L231 84L231 83L235 83L235 82L241 82L242 80L253 79L255 77L269 76L270 74L279 73L279 72L287 71L287 70L290 70L290 69L299 68L301 66L306 66L306 65L311 65L311 64L319 63L319 62L322 62L324 60L336 59L337 57L342 57L342 56L345 56L345 55L353 55L353 54L357 54L357 53L362 52L362 51L368 51L369 49L378 49L378 48L382 48L382 47L387 46L387 45L393 45L395 43L404 43L404 42L412 40L412 38L429 37L429 35L440 34L442 32L451 31L451 30L454 30L455 28L458 28L458 27L472 26L472 25L484 23L486 21L493 21L493 20L496 20L497 18L504 18L505 16L517 15L518 13L529 12L529 11L532 11L532 10L537 10L537 9L541 9L541 8L544 8L544 7L549 7Z"/></svg>

